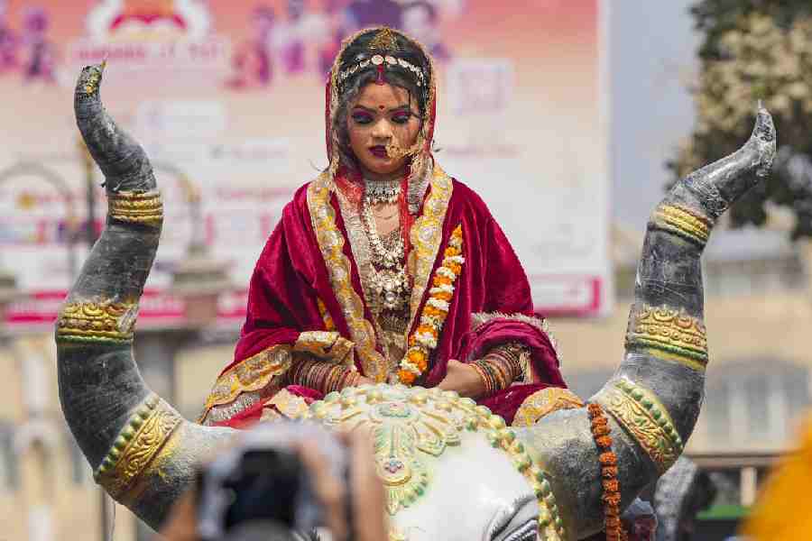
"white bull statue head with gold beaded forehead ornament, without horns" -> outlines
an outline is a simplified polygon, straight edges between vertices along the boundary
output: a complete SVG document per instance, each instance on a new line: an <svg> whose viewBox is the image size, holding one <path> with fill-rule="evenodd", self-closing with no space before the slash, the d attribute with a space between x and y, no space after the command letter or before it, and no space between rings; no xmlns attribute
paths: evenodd
<svg viewBox="0 0 812 541"><path fill-rule="evenodd" d="M380 384L329 394L304 417L372 431L393 539L564 536L547 474L502 417L471 399Z"/></svg>

